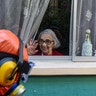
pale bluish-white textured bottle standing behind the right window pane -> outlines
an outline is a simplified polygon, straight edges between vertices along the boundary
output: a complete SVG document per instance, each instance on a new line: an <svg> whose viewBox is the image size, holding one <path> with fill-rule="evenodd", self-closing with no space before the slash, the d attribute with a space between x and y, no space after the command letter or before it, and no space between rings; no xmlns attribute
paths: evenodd
<svg viewBox="0 0 96 96"><path fill-rule="evenodd" d="M82 56L92 56L92 43L91 43L91 36L90 36L90 29L86 30L86 37L85 41L82 44Z"/></svg>

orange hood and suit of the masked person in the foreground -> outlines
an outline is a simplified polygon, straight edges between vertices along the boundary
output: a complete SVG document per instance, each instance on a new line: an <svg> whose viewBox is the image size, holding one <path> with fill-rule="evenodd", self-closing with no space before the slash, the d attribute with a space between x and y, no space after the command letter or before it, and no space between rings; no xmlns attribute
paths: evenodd
<svg viewBox="0 0 96 96"><path fill-rule="evenodd" d="M20 41L14 33L5 29L0 30L0 52L19 56L19 47L20 47L19 44ZM23 46L23 60L28 61L27 50L24 46ZM20 74L18 73L15 82L18 81L19 76ZM11 85L9 86L0 85L0 96L3 96L9 90L10 87Z"/></svg>

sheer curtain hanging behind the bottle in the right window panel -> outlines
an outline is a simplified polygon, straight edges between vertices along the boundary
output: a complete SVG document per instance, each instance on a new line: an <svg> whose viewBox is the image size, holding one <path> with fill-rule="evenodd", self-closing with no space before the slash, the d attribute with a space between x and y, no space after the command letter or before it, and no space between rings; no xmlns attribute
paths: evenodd
<svg viewBox="0 0 96 96"><path fill-rule="evenodd" d="M96 0L77 0L76 55L81 55L86 29L91 30L93 51L96 50Z"/></svg>

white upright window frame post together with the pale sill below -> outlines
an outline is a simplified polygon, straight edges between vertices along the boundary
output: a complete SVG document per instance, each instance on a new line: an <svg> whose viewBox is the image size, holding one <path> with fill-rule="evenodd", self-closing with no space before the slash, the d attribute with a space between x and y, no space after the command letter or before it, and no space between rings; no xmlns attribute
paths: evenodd
<svg viewBox="0 0 96 96"><path fill-rule="evenodd" d="M77 1L78 0L72 0L73 10L71 14L70 30L73 32L73 36L76 36L75 25ZM70 36L70 39L72 40L71 37L72 36ZM76 38L73 38L73 44L75 42L75 39ZM94 62L93 57L91 58L91 62L87 62L87 59L85 62L83 60L86 57L79 58L75 56L75 44L72 48L70 48L70 51L72 51L73 54L72 56L71 52L70 56L29 56L29 61L35 63L35 66L31 70L30 75L96 75L96 62ZM82 62L79 62L80 59L82 60Z"/></svg>

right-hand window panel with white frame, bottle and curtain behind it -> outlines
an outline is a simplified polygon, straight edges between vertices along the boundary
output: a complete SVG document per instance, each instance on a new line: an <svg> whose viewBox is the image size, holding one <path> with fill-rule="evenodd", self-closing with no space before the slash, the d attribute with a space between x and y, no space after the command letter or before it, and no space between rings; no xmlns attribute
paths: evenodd
<svg viewBox="0 0 96 96"><path fill-rule="evenodd" d="M96 1L74 0L73 61L96 61Z"/></svg>

